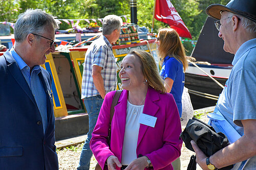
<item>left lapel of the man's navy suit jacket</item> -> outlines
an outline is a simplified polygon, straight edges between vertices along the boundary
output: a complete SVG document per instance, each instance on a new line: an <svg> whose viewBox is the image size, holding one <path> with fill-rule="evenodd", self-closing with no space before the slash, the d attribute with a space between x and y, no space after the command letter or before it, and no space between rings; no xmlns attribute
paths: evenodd
<svg viewBox="0 0 256 170"><path fill-rule="evenodd" d="M12 55L7 51L4 53L4 56L7 61L7 68L9 69L9 72L13 76L13 78L16 80L17 84L25 91L25 93L28 95L32 103L37 107L35 98L32 94L31 89L29 88L29 85L25 79L25 77L22 74L22 71L19 69L16 61L12 57Z"/></svg>

